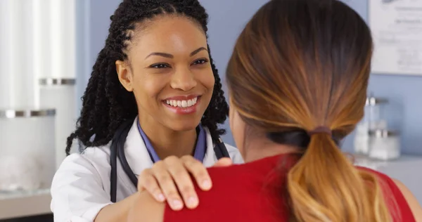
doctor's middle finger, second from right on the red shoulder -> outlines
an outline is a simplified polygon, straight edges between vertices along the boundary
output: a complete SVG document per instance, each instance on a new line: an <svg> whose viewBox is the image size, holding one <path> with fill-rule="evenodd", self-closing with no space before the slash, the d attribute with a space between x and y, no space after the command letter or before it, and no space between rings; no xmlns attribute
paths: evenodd
<svg viewBox="0 0 422 222"><path fill-rule="evenodd" d="M185 168L184 159L177 157L167 157L165 159L167 169L174 179L174 183L180 192L181 197L186 204L186 207L193 209L198 206L198 195L196 195L195 188L188 170ZM202 165L202 164L201 164ZM163 189L164 190L164 189Z"/></svg>

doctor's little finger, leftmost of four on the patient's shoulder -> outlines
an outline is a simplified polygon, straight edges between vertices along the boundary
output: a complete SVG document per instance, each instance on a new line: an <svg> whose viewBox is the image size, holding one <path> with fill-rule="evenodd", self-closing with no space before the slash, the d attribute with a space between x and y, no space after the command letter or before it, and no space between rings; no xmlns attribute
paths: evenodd
<svg viewBox="0 0 422 222"><path fill-rule="evenodd" d="M161 192L160 185L158 185L152 169L144 169L138 178L138 191L147 190L155 200L158 202L165 201L165 196Z"/></svg>

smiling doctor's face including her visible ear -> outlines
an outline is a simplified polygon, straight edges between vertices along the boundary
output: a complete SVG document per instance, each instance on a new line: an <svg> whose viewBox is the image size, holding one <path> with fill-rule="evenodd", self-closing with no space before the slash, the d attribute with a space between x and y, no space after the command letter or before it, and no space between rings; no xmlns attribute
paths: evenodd
<svg viewBox="0 0 422 222"><path fill-rule="evenodd" d="M128 61L117 61L120 82L133 91L141 125L175 131L198 126L214 89L207 39L188 18L162 15L132 33Z"/></svg>

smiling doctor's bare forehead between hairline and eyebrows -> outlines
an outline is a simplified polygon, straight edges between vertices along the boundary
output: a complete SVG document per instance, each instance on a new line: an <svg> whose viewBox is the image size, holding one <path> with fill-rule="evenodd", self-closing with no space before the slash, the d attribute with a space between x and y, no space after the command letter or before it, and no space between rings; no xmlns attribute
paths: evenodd
<svg viewBox="0 0 422 222"><path fill-rule="evenodd" d="M136 24L128 44L129 55L153 52L186 54L196 48L207 48L202 27L183 15L160 15Z"/></svg>

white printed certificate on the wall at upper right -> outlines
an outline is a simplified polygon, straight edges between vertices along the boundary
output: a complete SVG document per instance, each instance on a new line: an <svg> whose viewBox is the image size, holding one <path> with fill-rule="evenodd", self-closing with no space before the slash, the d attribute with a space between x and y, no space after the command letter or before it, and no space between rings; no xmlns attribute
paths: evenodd
<svg viewBox="0 0 422 222"><path fill-rule="evenodd" d="M422 76L422 0L368 0L374 74Z"/></svg>

